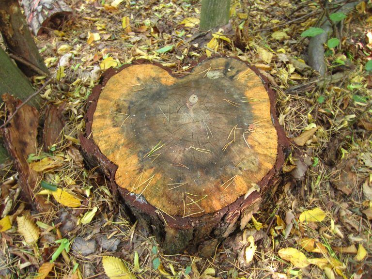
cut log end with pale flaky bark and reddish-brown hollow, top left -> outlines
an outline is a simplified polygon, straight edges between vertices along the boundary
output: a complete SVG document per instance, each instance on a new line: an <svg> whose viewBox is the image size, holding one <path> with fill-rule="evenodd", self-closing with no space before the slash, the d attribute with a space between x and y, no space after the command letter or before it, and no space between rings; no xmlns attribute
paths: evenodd
<svg viewBox="0 0 372 279"><path fill-rule="evenodd" d="M22 0L27 24L35 36L48 29L58 29L69 18L72 9L64 0Z"/></svg>

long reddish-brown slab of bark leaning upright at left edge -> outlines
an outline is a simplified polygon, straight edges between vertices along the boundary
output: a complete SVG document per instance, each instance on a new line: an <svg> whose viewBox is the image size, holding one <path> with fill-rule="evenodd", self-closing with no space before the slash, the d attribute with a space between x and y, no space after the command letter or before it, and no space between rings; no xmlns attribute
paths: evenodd
<svg viewBox="0 0 372 279"><path fill-rule="evenodd" d="M11 115L21 101L9 94L4 94L2 99L6 103L8 115ZM45 212L50 205L43 196L35 195L34 189L38 185L39 176L30 169L27 157L36 153L36 136L39 124L39 113L29 105L18 110L15 117L7 127L2 129L2 135L10 155L14 159L16 170L19 172L19 183L22 186L22 195L39 212Z"/></svg>

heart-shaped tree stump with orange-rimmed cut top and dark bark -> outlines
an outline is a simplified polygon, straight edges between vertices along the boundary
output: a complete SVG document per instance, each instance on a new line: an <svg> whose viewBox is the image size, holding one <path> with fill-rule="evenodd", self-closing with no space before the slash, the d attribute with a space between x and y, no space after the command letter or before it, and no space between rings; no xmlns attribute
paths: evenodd
<svg viewBox="0 0 372 279"><path fill-rule="evenodd" d="M94 88L81 146L165 252L208 255L279 180L287 141L274 105L258 70L235 58L183 75L140 61Z"/></svg>

